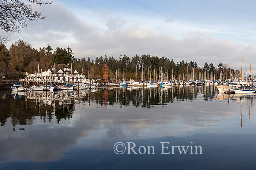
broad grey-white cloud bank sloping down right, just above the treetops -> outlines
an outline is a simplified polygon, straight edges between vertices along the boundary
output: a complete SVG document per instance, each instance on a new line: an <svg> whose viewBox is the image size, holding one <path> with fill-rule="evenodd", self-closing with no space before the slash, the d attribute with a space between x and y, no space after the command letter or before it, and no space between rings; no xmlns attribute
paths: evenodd
<svg viewBox="0 0 256 170"><path fill-rule="evenodd" d="M222 62L235 69L240 68L241 58L244 58L245 68L249 68L250 63L252 68L256 67L251 60L256 56L255 44L233 43L212 35L212 32L223 33L224 29L200 28L199 25L186 25L179 21L167 27L163 20L138 17L131 21L128 16L117 16L105 10L98 11L97 15L102 16L100 23L90 24L57 1L52 5L37 7L37 10L47 16L46 20L29 23L29 28L22 29L22 33L1 33L10 39L7 47L22 39L37 49L48 44L53 49L70 46L75 57L79 58L151 54L173 58L175 62L193 60L201 67L205 62L212 62L215 67ZM94 10L92 14L96 13L97 10ZM170 18L166 20L171 21ZM173 32L168 28L172 28ZM175 36L178 30L183 37Z"/></svg>

